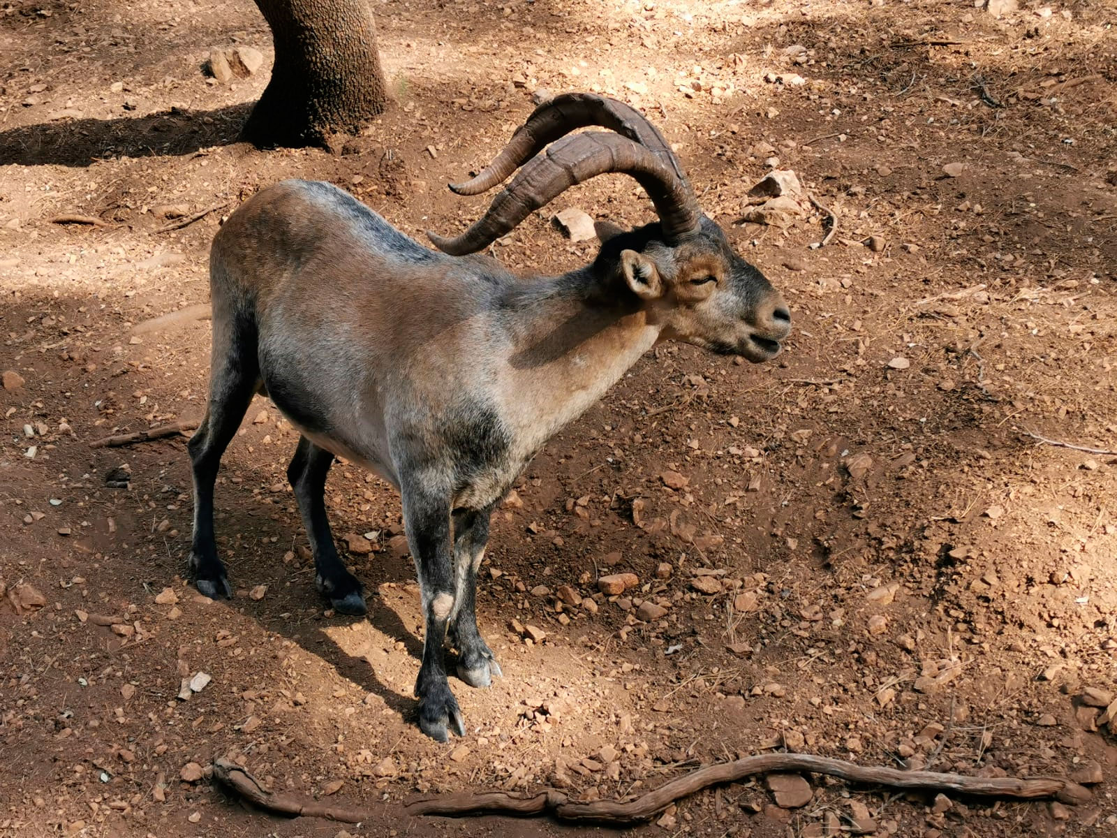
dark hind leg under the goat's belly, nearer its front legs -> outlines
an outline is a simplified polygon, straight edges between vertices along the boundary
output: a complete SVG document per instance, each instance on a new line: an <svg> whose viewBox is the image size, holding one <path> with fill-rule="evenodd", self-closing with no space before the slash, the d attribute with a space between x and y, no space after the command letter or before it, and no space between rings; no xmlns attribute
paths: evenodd
<svg viewBox="0 0 1117 838"><path fill-rule="evenodd" d="M287 467L287 479L295 491L303 524L314 552L315 579L318 591L342 613L363 615L367 607L361 582L345 569L326 517L326 475L334 455L300 437L295 456Z"/></svg>

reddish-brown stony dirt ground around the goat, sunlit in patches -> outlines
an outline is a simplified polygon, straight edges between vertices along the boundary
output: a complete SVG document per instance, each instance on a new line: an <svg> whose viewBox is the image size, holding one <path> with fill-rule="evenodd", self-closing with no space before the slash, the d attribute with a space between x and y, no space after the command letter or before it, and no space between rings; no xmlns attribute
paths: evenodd
<svg viewBox="0 0 1117 838"><path fill-rule="evenodd" d="M0 371L22 384L0 390L0 836L343 834L230 800L204 775L221 755L382 812L352 835L581 832L401 804L638 794L773 750L1097 784L1062 807L815 777L782 809L756 780L640 831L1117 835L1117 9L1020 6L378 2L395 104L331 154L236 143L270 66L246 0L3 0ZM264 67L212 84L206 56L237 45ZM332 522L370 616L324 610L284 477L297 437L258 399L218 486L237 596L211 602L184 579L184 438L89 444L200 418L197 306L239 201L318 178L420 239L460 229L487 202L442 184L537 88L603 92L660 125L795 331L764 366L657 347L531 465L479 592L505 677L451 678L468 736L439 745L414 726L421 620L394 492L335 465ZM820 211L742 222L771 165L837 213L829 245L811 247ZM589 259L550 223L569 206L651 209L602 178L495 255ZM365 534L372 552L345 537ZM622 571L634 590L596 593ZM666 616L640 620L646 600ZM211 682L178 697L198 673Z"/></svg>

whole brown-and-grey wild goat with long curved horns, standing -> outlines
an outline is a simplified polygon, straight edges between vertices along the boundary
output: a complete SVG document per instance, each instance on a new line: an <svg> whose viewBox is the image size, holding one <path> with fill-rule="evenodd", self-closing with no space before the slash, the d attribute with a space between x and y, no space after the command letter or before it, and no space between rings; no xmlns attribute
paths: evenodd
<svg viewBox="0 0 1117 838"><path fill-rule="evenodd" d="M615 133L565 136L589 125ZM443 663L448 630L458 677L488 686L500 675L477 630L477 570L489 515L535 453L660 341L760 362L791 328L781 296L703 215L675 154L631 107L560 96L450 188L477 194L521 165L464 234L428 234L441 254L333 185L290 180L233 212L210 255L210 397L190 440L198 590L231 596L213 483L252 394L266 393L302 434L287 477L315 581L338 611L364 613L365 602L326 521L326 473L344 457L399 489L426 619L419 724L440 741L448 725L465 735ZM659 222L599 226L593 264L556 277L516 277L467 256L605 172L639 181Z"/></svg>

